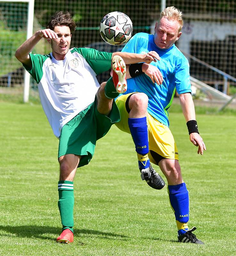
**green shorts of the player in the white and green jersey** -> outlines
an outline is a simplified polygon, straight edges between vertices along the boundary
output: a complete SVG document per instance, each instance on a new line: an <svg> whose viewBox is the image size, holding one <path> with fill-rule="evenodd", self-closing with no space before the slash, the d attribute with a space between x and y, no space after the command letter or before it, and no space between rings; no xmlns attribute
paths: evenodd
<svg viewBox="0 0 236 256"><path fill-rule="evenodd" d="M62 127L58 158L74 154L82 156L78 167L88 164L93 157L96 141L119 121L120 112L115 101L109 116L105 116L98 112L96 96L93 103Z"/></svg>

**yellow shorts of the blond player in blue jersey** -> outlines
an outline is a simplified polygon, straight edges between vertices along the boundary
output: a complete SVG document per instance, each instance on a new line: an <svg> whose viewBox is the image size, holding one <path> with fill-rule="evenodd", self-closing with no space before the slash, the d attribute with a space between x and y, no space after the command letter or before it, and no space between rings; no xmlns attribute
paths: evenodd
<svg viewBox="0 0 236 256"><path fill-rule="evenodd" d="M128 118L129 113L126 110L125 102L132 93L122 95L115 101L117 107L120 110L121 121L115 125L123 132L130 133ZM174 137L170 129L156 120L149 113L147 114L148 119L148 141L149 141L149 159L153 164L157 164L150 154L150 150L156 152L160 156L168 159L178 160L178 149L174 140Z"/></svg>

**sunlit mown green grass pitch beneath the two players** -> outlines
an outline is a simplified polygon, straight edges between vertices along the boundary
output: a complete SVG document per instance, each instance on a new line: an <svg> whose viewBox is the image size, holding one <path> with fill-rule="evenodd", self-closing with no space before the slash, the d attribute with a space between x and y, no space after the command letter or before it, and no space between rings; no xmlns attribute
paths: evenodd
<svg viewBox="0 0 236 256"><path fill-rule="evenodd" d="M58 140L42 107L1 102L0 113L0 255L236 255L235 116L197 115L207 147L199 156L183 115L170 113L190 195L189 227L205 245L177 243L167 189L141 180L133 142L115 126L75 176L75 242L66 245L55 241Z"/></svg>

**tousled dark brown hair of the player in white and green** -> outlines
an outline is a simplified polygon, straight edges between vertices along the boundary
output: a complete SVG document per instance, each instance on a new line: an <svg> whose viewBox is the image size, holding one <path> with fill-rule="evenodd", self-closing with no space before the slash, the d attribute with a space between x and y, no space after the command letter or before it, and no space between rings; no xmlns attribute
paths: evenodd
<svg viewBox="0 0 236 256"><path fill-rule="evenodd" d="M70 28L70 33L75 31L76 24L72 20L69 12L56 12L51 16L51 20L47 24L47 28L54 30L56 26L67 26Z"/></svg>

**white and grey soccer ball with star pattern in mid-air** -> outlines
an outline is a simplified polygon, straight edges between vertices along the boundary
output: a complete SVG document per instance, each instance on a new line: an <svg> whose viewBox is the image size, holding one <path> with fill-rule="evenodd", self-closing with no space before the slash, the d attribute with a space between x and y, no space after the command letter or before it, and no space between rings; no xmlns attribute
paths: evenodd
<svg viewBox="0 0 236 256"><path fill-rule="evenodd" d="M110 12L100 23L100 34L103 40L112 45L127 43L133 33L133 24L123 12Z"/></svg>

